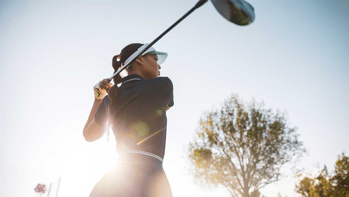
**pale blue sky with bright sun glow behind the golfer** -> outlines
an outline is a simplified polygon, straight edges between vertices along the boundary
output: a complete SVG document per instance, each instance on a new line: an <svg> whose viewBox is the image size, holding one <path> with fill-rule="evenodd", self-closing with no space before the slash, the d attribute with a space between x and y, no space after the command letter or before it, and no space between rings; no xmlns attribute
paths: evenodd
<svg viewBox="0 0 349 197"><path fill-rule="evenodd" d="M203 111L231 93L286 110L309 150L307 172L349 154L349 1L249 1L256 19L239 27L207 2L154 47L169 53L162 76L174 85L164 169L174 196L228 196L205 190L186 168L186 146ZM92 86L112 75L129 43L150 43L196 1L1 1L0 195L88 196L116 160L115 142L82 137ZM262 194L295 196L288 177ZM51 195L50 195L51 196Z"/></svg>

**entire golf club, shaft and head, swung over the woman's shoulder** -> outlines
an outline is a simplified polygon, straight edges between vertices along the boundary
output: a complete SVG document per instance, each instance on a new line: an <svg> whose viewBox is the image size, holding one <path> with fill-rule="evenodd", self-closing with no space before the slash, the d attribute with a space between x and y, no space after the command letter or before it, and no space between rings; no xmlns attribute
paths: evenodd
<svg viewBox="0 0 349 197"><path fill-rule="evenodd" d="M208 0L199 0L196 5L184 14L178 21L173 23L171 27L166 29L161 35L159 35L153 42L151 42L146 48L139 52L134 58L124 64L116 73L110 78L104 81L104 85L109 83L114 76L118 75L121 71L127 68L135 59L139 58L143 52L153 46L160 38L162 38L167 32L174 28L178 23L185 19L195 9L205 4ZM253 7L244 0L211 0L217 11L228 21L233 22L237 25L248 25L254 20L254 9Z"/></svg>

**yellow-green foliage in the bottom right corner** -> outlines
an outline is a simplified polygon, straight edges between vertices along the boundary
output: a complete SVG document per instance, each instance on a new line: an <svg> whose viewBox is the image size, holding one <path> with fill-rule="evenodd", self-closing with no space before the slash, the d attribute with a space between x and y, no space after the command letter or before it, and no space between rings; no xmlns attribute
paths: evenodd
<svg viewBox="0 0 349 197"><path fill-rule="evenodd" d="M334 175L329 175L325 166L317 177L300 180L296 191L306 197L349 197L349 158L342 153L336 161Z"/></svg>

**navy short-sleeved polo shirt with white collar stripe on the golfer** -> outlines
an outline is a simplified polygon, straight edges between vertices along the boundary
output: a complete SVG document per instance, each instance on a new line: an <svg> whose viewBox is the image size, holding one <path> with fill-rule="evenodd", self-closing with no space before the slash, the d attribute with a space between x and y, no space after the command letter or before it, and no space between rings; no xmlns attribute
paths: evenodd
<svg viewBox="0 0 349 197"><path fill-rule="evenodd" d="M168 77L146 80L138 74L131 74L122 78L121 82L116 102L112 103L105 96L99 105L95 114L96 123L106 126L109 119L119 154L138 150L156 154L163 159L166 107L173 106L172 81Z"/></svg>

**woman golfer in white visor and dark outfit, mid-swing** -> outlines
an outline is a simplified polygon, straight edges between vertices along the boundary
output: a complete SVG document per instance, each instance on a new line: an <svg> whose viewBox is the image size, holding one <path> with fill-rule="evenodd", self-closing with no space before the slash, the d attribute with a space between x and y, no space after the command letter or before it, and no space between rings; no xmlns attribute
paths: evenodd
<svg viewBox="0 0 349 197"><path fill-rule="evenodd" d="M122 49L113 57L114 73L146 46L133 43ZM162 168L166 110L173 106L172 82L159 77L166 57L167 53L151 47L126 68L127 76L114 77L114 86L103 85L104 79L94 87L96 99L83 136L87 141L97 140L111 125L119 157L116 168L103 176L90 197L172 197Z"/></svg>

